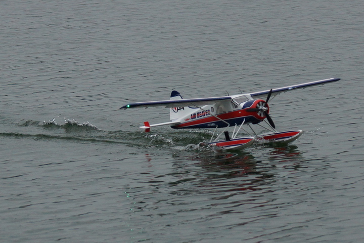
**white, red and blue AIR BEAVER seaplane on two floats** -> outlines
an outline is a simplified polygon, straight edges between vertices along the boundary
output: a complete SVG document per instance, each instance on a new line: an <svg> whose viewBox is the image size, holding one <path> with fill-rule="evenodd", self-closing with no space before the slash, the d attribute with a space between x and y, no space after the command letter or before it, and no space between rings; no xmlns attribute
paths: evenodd
<svg viewBox="0 0 364 243"><path fill-rule="evenodd" d="M269 114L268 101L283 92L325 85L338 80L340 78L333 77L253 93L241 92L238 95L193 99L183 99L179 92L173 90L169 100L130 103L120 109L169 108L170 121L159 124L149 124L145 121L144 126L140 128L145 129L145 132L150 132L152 127L157 126L170 126L173 129L211 129L213 133L207 145L224 149L244 149L258 140L290 143L301 136L302 130L277 131ZM260 124L262 121L265 121L266 126ZM243 129L243 125L247 125L252 132ZM258 135L251 125L258 125L269 132ZM233 127L234 131L230 135L228 129L232 130ZM223 130L215 136L217 129ZM241 131L249 136L238 136ZM224 136L220 139L222 134Z"/></svg>

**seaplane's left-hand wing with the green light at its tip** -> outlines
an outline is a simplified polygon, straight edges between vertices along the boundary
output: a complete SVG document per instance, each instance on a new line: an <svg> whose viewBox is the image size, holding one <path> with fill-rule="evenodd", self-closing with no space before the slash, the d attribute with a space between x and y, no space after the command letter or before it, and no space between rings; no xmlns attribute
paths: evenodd
<svg viewBox="0 0 364 243"><path fill-rule="evenodd" d="M130 103L120 107L120 109L134 108L134 107L153 107L164 106L165 108L182 107L182 106L203 106L210 105L224 100L231 100L230 96L210 97L200 99L182 99L182 100L160 100L148 102Z"/></svg>

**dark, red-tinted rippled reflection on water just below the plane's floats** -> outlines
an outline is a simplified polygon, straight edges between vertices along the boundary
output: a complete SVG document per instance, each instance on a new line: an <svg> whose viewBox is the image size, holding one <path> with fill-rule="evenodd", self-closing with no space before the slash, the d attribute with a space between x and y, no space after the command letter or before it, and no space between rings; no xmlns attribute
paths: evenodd
<svg viewBox="0 0 364 243"><path fill-rule="evenodd" d="M254 156L254 151L259 149L271 149L267 163ZM177 182L170 184L177 185L181 181L194 181L195 189L200 193L261 190L266 188L271 178L275 176L277 166L282 165L283 168L297 170L300 167L301 158L301 152L294 145L272 148L267 145L257 146L251 149L251 152L200 152L195 156L183 156L183 159L195 163L185 165L183 169L188 170L189 173L178 174ZM179 164L174 165L180 170ZM189 170L192 166L194 168L193 178L191 178L192 172ZM188 179L183 178L184 175Z"/></svg>

